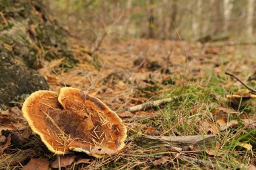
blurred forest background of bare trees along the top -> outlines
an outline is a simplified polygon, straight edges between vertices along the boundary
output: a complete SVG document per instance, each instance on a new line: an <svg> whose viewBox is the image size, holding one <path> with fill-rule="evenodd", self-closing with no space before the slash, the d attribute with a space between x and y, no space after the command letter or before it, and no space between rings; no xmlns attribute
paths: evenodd
<svg viewBox="0 0 256 170"><path fill-rule="evenodd" d="M110 38L253 40L255 0L44 1L72 36L92 43ZM177 30L176 30L177 29Z"/></svg>

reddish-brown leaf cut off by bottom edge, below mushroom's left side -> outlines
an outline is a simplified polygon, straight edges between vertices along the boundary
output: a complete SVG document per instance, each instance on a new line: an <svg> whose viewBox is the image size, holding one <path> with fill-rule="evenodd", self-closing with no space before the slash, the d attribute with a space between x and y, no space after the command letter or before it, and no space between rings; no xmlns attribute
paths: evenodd
<svg viewBox="0 0 256 170"><path fill-rule="evenodd" d="M49 161L47 159L30 159L29 163L24 166L23 170L47 170L49 168Z"/></svg>

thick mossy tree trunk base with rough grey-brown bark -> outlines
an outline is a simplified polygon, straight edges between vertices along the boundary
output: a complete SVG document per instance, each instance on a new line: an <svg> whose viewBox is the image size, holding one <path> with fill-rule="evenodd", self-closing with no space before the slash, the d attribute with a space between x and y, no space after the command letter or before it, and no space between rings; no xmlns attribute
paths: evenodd
<svg viewBox="0 0 256 170"><path fill-rule="evenodd" d="M38 59L66 56L65 30L44 10L40 1L6 0L0 3L0 108L11 106L39 89L49 89L44 77L33 69ZM70 62L69 62L70 63Z"/></svg>

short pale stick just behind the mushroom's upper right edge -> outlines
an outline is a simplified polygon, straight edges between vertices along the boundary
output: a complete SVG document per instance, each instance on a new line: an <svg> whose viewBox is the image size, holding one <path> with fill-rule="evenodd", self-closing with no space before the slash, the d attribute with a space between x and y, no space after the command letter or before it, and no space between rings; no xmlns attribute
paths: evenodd
<svg viewBox="0 0 256 170"><path fill-rule="evenodd" d="M122 112L125 112L125 111L137 112L139 110L146 110L146 109L148 109L152 106L157 106L157 105L160 105L162 103L168 103L170 101L173 101L173 99L176 99L176 97L166 98L166 99L158 99L156 101L148 101L146 103L142 103L142 104L139 104L139 105L132 106L131 108L124 108L122 110L117 110L116 112L119 114L119 113L122 113Z"/></svg>

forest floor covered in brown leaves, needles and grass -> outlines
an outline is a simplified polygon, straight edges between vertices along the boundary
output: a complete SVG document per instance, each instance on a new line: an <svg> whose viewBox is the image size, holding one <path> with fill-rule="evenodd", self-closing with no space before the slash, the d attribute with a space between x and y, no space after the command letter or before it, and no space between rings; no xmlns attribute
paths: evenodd
<svg viewBox="0 0 256 170"><path fill-rule="evenodd" d="M255 89L256 46L228 42L106 40L89 56L88 48L77 44L69 46L79 60L76 66L65 66L64 59L59 59L39 70L51 90L59 91L63 87L60 76L67 86L83 91L90 89L87 93L117 112L146 101L169 97L173 101L135 113L119 113L128 130L125 148L104 159L69 157L67 169L256 168L256 95L241 91L245 86L225 75L225 71L232 73ZM215 134L216 143L198 151L175 150L158 144L143 146L142 139L136 140L147 135L197 134ZM36 136L30 139L24 155L53 161L54 155L45 153L38 140ZM0 148L0 152L6 147ZM34 148L42 149L33 153ZM18 152L22 150L10 148L2 154L0 164ZM83 161L79 162L81 157ZM19 169L28 160L19 165L8 162L4 168Z"/></svg>

